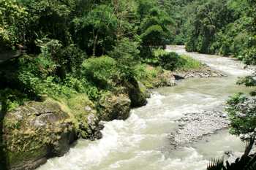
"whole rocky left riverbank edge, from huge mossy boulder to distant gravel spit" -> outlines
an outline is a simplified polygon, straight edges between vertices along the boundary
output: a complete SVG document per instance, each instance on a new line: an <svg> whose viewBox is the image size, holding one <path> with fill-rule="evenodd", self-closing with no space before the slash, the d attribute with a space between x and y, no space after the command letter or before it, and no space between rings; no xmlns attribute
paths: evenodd
<svg viewBox="0 0 256 170"><path fill-rule="evenodd" d="M36 169L48 158L63 156L70 144L79 138L100 139L103 126L99 121L126 120L132 108L146 104L149 88L173 86L181 78L198 75L222 76L207 66L185 72L146 66L140 72L143 76L124 82L97 102L90 101L82 93L69 98L45 96L42 101L28 101L7 112L3 138L9 169Z"/></svg>

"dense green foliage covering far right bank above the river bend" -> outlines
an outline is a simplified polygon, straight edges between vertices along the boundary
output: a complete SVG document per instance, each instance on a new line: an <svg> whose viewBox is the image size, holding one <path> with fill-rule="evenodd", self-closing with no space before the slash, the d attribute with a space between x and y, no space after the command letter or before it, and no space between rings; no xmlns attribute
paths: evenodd
<svg viewBox="0 0 256 170"><path fill-rule="evenodd" d="M234 55L255 65L255 2L197 0L182 9L186 22L179 35L187 35L187 51Z"/></svg>

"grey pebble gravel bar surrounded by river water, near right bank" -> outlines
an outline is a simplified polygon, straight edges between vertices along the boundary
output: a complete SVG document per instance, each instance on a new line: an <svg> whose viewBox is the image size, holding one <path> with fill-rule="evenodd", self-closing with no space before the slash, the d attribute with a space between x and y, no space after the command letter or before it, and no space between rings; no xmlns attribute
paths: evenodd
<svg viewBox="0 0 256 170"><path fill-rule="evenodd" d="M186 113L176 122L178 128L170 134L170 144L174 148L187 146L203 136L228 128L229 125L227 115L219 111Z"/></svg>

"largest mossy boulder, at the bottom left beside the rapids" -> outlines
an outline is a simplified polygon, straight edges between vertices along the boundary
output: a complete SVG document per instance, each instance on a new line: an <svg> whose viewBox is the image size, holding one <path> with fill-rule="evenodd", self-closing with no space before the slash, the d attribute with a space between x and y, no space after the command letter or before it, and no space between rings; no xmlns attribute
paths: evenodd
<svg viewBox="0 0 256 170"><path fill-rule="evenodd" d="M59 102L31 101L7 112L2 137L7 169L36 169L47 158L62 156L75 140L74 124Z"/></svg>

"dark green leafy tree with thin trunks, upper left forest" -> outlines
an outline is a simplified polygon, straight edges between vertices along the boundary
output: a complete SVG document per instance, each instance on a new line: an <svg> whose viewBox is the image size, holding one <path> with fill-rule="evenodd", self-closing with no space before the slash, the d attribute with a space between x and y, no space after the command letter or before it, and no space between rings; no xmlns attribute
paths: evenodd
<svg viewBox="0 0 256 170"><path fill-rule="evenodd" d="M117 20L113 9L105 4L97 5L81 18L75 18L75 36L80 47L92 49L92 55L97 55L97 47L102 55L106 48L111 48L116 39ZM80 37L79 37L80 36Z"/></svg>

